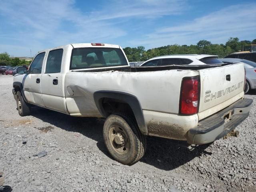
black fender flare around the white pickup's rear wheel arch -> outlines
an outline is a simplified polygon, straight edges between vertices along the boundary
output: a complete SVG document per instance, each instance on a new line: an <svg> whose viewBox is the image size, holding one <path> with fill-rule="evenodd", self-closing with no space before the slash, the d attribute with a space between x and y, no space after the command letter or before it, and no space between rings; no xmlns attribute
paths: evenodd
<svg viewBox="0 0 256 192"><path fill-rule="evenodd" d="M148 134L148 129L144 120L142 107L140 105L138 98L136 98L136 96L132 94L128 94L126 92L119 92L119 91L102 90L102 91L95 92L94 93L95 104L99 112L102 114L102 116L107 117L108 113L106 112L106 110L104 110L104 106L102 104L102 101L104 98L116 99L128 104L132 109L132 112L136 118L140 131L142 132L142 134L145 134L145 135Z"/></svg>

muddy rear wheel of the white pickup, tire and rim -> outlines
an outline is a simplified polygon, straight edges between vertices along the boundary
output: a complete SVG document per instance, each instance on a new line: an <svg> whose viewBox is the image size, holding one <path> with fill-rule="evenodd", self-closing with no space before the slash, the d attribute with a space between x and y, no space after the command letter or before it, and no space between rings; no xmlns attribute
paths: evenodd
<svg viewBox="0 0 256 192"><path fill-rule="evenodd" d="M110 155L122 164L134 164L145 153L146 136L140 132L136 122L125 114L108 116L103 137Z"/></svg>

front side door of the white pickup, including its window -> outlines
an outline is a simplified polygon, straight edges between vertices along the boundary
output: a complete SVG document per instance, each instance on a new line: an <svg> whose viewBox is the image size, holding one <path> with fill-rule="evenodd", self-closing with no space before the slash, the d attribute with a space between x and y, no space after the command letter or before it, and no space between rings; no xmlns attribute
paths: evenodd
<svg viewBox="0 0 256 192"><path fill-rule="evenodd" d="M45 52L39 53L32 61L28 74L25 75L23 88L27 101L31 104L44 106L41 92L41 72Z"/></svg>

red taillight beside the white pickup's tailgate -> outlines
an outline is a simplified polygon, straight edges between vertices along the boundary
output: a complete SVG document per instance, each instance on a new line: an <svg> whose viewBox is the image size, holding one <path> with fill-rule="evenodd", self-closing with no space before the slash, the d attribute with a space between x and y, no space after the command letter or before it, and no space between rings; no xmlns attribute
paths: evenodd
<svg viewBox="0 0 256 192"><path fill-rule="evenodd" d="M180 114L196 114L199 107L199 76L183 78L181 88L182 90L180 92Z"/></svg>

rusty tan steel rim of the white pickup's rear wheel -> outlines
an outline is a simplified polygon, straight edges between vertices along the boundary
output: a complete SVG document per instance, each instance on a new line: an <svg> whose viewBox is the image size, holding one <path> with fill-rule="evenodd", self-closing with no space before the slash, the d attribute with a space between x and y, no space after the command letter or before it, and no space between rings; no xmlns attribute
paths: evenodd
<svg viewBox="0 0 256 192"><path fill-rule="evenodd" d="M113 125L109 130L109 140L112 148L121 155L129 151L130 143L124 128L120 125Z"/></svg>

